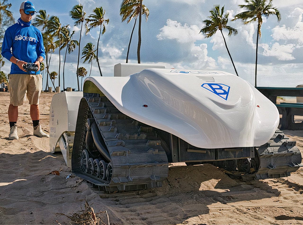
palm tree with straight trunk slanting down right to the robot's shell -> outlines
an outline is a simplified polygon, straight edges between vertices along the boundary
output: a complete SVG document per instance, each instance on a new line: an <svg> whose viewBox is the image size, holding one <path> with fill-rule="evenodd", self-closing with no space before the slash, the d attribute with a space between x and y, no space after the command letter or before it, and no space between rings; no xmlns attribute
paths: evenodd
<svg viewBox="0 0 303 225"><path fill-rule="evenodd" d="M228 36L231 36L231 34L233 34L233 33L234 33L234 35L236 35L238 33L238 31L230 26L227 26L227 22L228 22L227 17L228 17L229 13L225 13L225 15L223 15L224 6L221 8L221 13L220 13L220 5L215 5L215 9L212 11L209 11L209 12L211 13L211 16L208 16L209 20L203 21L206 24L205 24L205 27L201 29L200 33L206 34L206 37L208 38L208 37L211 37L212 35L214 35L218 30L221 31L222 37L224 39L225 47L227 49L231 63L234 66L235 72L238 76L234 61L232 60L231 55L229 53L222 29L225 28L229 31Z"/></svg>

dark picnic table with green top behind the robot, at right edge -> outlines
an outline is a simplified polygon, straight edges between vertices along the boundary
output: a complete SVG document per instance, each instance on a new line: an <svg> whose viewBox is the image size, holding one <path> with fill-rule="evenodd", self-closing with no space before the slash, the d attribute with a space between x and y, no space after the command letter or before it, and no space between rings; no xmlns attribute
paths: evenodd
<svg viewBox="0 0 303 225"><path fill-rule="evenodd" d="M282 114L280 129L303 130L303 123L295 123L294 116L303 116L303 103L277 103L277 96L303 97L302 87L256 87L271 100Z"/></svg>

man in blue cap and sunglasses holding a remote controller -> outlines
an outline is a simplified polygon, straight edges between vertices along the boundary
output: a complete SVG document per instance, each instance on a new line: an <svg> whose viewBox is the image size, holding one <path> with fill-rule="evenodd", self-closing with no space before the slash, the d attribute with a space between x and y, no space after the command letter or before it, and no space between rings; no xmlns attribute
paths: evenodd
<svg viewBox="0 0 303 225"><path fill-rule="evenodd" d="M8 119L10 125L9 139L18 139L18 106L23 105L25 92L30 104L30 116L37 137L49 137L39 124L39 96L42 91L40 65L45 58L41 32L31 24L35 7L32 2L21 3L21 17L17 23L6 31L2 44L2 56L12 62L9 76L10 105Z"/></svg>

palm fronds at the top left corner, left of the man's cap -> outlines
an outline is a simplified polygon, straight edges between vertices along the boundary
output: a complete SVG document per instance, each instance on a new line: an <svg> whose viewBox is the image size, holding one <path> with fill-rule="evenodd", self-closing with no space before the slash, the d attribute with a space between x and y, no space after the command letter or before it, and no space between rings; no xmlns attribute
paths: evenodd
<svg viewBox="0 0 303 225"><path fill-rule="evenodd" d="M11 8L12 4L7 3L8 0L0 1L0 45L2 46L2 40L7 27L15 23L14 16L8 9Z"/></svg>

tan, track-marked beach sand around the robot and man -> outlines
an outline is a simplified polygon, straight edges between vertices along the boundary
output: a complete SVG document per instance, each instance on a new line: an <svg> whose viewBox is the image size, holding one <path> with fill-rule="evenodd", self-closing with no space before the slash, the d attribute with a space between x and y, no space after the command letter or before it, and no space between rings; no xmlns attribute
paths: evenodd
<svg viewBox="0 0 303 225"><path fill-rule="evenodd" d="M52 95L40 97L46 132ZM303 169L243 182L209 164L180 163L161 188L108 194L70 175L62 154L49 153L49 139L32 135L28 102L19 107L19 139L8 140L8 105L8 93L0 93L0 224L70 224L61 214L81 214L86 201L95 213L106 210L110 224L303 224ZM303 132L284 132L303 152Z"/></svg>

